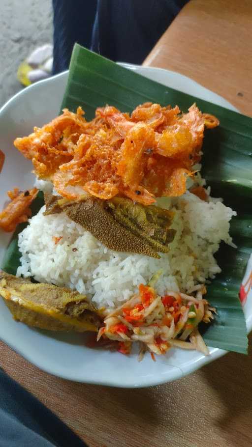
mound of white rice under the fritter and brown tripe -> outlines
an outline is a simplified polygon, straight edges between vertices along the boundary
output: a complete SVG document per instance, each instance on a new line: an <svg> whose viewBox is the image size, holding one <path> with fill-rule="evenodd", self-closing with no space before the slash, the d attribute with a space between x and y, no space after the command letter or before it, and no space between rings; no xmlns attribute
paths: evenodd
<svg viewBox="0 0 252 447"><path fill-rule="evenodd" d="M199 176L198 183L202 181ZM39 187L49 190L46 184ZM43 207L19 235L22 265L17 276L76 289L99 307L127 300L160 269L159 294L167 289L187 292L214 278L221 269L213 255L221 241L233 245L229 221L236 213L221 199L203 202L189 192L174 199L163 197L158 204L176 211L172 227L177 230L169 253L160 259L108 250L65 213L43 216ZM62 239L55 244L55 237Z"/></svg>

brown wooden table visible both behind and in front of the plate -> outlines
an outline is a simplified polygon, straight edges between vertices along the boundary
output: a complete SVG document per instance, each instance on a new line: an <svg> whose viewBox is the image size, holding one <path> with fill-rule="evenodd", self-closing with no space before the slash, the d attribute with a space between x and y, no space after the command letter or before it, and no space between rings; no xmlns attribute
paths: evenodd
<svg viewBox="0 0 252 447"><path fill-rule="evenodd" d="M252 114L251 24L251 0L192 0L144 64L179 71ZM3 343L0 359L90 447L252 445L252 356L230 353L176 382L139 390L64 381Z"/></svg>

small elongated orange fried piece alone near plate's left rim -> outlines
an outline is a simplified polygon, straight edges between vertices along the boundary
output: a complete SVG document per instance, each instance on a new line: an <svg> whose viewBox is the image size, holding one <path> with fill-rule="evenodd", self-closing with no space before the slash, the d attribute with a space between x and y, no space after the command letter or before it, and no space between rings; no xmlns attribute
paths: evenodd
<svg viewBox="0 0 252 447"><path fill-rule="evenodd" d="M18 188L8 191L11 202L0 213L0 228L4 231L14 231L18 223L27 222L32 213L29 206L36 197L36 188L20 192Z"/></svg>

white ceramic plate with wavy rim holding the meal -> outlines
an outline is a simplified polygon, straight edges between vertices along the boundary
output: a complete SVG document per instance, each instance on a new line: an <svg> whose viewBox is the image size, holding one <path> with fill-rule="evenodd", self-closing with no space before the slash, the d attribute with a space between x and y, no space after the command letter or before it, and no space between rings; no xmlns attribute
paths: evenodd
<svg viewBox="0 0 252 447"><path fill-rule="evenodd" d="M161 84L236 110L219 95L179 73L124 65ZM15 95L0 110L0 148L6 156L0 174L0 209L6 200L7 190L14 186L27 189L34 181L31 163L13 147L13 140L28 135L33 126L42 126L58 114L66 79L67 72L34 84ZM8 241L9 236L0 232L0 262ZM248 267L246 277L251 270ZM244 309L248 330L251 330L252 293ZM210 348L210 356L205 357L198 352L172 349L166 356L157 356L156 362L146 355L138 363L134 354L126 357L85 347L83 335L39 331L17 323L2 300L0 338L30 362L51 374L78 382L116 387L146 387L169 382L212 362L226 352Z"/></svg>

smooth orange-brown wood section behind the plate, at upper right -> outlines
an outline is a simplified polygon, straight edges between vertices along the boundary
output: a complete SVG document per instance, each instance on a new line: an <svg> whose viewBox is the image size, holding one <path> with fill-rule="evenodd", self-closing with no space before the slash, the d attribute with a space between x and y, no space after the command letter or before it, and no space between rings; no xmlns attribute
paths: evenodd
<svg viewBox="0 0 252 447"><path fill-rule="evenodd" d="M251 0L190 0L143 65L182 73L252 116L251 30Z"/></svg>

